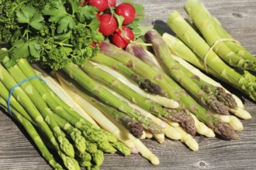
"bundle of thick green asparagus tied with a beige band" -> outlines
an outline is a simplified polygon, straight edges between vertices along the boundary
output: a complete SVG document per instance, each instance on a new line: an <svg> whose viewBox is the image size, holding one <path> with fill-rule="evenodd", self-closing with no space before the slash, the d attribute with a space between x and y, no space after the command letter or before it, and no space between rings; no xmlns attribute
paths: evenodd
<svg viewBox="0 0 256 170"><path fill-rule="evenodd" d="M168 41L171 50L255 101L256 58L224 30L198 0L187 0L185 11L197 30L177 11L172 12L167 24L189 48L181 53L181 46Z"/></svg>

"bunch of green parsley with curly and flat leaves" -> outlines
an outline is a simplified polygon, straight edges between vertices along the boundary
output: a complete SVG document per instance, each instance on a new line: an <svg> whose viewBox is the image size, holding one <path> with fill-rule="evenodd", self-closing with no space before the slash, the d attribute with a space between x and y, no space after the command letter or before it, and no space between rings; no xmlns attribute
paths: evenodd
<svg viewBox="0 0 256 170"><path fill-rule="evenodd" d="M53 70L67 63L81 66L99 52L92 43L102 42L97 8L81 6L78 0L0 2L0 46L9 49L8 65L17 59L43 61Z"/></svg>

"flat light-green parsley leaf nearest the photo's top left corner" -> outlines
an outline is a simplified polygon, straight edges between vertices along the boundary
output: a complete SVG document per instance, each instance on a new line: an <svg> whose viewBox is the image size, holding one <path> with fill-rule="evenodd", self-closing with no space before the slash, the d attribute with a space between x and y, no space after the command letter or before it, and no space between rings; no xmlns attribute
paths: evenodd
<svg viewBox="0 0 256 170"><path fill-rule="evenodd" d="M16 15L19 23L26 23L37 30L43 28L43 15L37 12L36 8L32 6L22 6Z"/></svg>

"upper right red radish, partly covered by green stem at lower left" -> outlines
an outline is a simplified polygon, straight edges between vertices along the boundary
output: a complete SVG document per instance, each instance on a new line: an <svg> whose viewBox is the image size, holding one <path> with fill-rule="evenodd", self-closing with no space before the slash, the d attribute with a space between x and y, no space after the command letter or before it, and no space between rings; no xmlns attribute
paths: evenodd
<svg viewBox="0 0 256 170"><path fill-rule="evenodd" d="M130 22L133 22L135 16L136 16L136 10L133 7L133 5L129 3L121 3L116 7L116 14L122 15L123 20L123 26L126 26L130 24Z"/></svg>

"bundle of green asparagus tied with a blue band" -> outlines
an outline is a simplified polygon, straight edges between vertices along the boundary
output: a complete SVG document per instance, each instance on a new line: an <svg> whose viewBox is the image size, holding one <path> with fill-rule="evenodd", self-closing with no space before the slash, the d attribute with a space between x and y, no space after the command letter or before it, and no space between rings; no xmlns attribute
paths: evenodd
<svg viewBox="0 0 256 170"><path fill-rule="evenodd" d="M5 56L0 65L1 107L12 111L10 114L26 128L53 168L62 169L62 165L67 169L99 168L104 160L103 152L118 150L130 155L129 148L81 117L47 83L31 79L36 74L26 59L6 67L8 61L9 57ZM16 88L12 90L13 87ZM47 147L54 148L62 160L60 164Z"/></svg>

